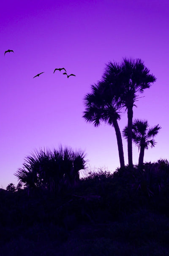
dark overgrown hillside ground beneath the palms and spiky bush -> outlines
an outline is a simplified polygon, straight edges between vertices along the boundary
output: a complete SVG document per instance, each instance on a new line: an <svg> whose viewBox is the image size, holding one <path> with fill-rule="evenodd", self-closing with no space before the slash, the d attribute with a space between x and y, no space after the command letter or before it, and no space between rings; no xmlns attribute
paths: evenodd
<svg viewBox="0 0 169 256"><path fill-rule="evenodd" d="M66 184L0 189L0 256L169 255L168 160Z"/></svg>

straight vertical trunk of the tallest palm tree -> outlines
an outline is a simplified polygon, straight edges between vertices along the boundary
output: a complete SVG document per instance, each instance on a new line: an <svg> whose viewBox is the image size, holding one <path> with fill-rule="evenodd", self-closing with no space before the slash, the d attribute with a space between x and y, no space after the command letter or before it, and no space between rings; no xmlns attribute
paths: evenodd
<svg viewBox="0 0 169 256"><path fill-rule="evenodd" d="M132 122L133 122L133 107L128 107L127 109L128 116L128 165L133 165L133 156L132 156Z"/></svg>

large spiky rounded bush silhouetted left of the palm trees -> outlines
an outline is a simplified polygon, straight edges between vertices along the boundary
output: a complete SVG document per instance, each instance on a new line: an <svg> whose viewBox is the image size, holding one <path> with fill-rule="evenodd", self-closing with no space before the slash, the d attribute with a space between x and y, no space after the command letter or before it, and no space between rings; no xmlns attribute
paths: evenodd
<svg viewBox="0 0 169 256"><path fill-rule="evenodd" d="M76 186L79 171L85 169L85 154L74 152L62 146L54 152L42 150L25 158L22 168L14 174L19 183L27 188L44 188L50 192L60 191L63 187Z"/></svg>

